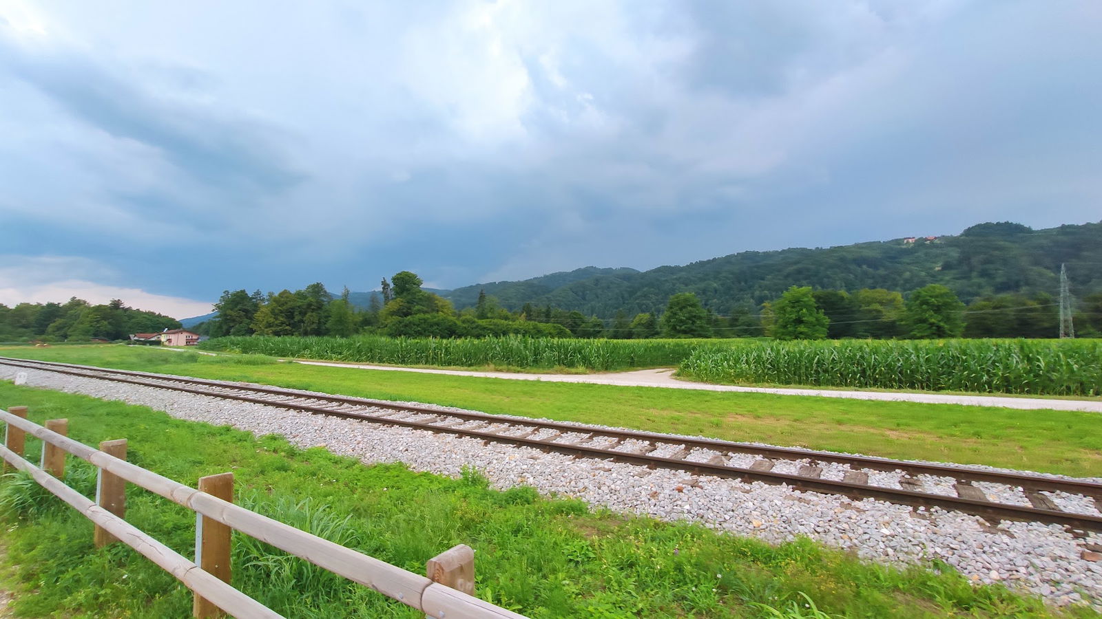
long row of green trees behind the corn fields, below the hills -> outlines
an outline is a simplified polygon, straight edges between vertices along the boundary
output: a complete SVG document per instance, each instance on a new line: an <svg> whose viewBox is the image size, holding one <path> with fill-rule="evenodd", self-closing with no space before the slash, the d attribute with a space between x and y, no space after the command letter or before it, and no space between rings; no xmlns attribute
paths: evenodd
<svg viewBox="0 0 1102 619"><path fill-rule="evenodd" d="M936 338L1056 337L1058 304L1046 294L988 295L964 305L947 286L929 284L904 296L885 289L812 290L791 286L758 307L733 306L728 314L705 310L691 292L677 293L663 312L628 315L624 310L604 319L576 310L525 303L503 307L480 291L473 306L456 311L450 301L421 289L415 273L402 271L380 282L381 295L367 307L349 302L347 289L331 294L323 284L303 290L261 294L225 291L218 316L194 330L224 335L332 335L374 333L406 337L774 337ZM1102 293L1084 297L1076 316L1084 337L1102 335Z"/></svg>

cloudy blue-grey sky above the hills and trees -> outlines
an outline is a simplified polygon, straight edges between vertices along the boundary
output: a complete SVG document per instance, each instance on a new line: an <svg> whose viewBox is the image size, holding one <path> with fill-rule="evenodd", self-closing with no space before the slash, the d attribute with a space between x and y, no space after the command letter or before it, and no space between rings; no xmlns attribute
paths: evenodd
<svg viewBox="0 0 1102 619"><path fill-rule="evenodd" d="M0 0L0 303L1102 219L1102 2Z"/></svg>

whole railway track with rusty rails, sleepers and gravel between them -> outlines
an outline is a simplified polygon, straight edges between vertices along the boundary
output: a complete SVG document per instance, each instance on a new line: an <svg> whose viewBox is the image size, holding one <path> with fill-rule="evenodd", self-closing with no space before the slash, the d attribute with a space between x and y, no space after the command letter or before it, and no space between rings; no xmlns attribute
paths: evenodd
<svg viewBox="0 0 1102 619"><path fill-rule="evenodd" d="M364 398L306 394L271 387L73 363L0 357L0 365L456 434L693 475L782 484L798 490L872 498L916 508L940 508L980 515L995 524L1001 520L1017 520L1059 524L1072 531L1102 532L1102 484L1093 481L441 411Z"/></svg>

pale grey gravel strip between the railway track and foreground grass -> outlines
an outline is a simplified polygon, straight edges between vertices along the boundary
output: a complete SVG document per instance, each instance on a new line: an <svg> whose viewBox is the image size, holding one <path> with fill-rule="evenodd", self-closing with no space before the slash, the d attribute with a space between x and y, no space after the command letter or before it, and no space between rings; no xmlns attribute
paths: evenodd
<svg viewBox="0 0 1102 619"><path fill-rule="evenodd" d="M938 508L916 510L874 499L651 470L450 434L0 366L4 380L13 379L17 372L26 372L29 385L147 405L177 419L230 425L258 436L280 434L296 446L321 446L367 464L404 463L413 470L452 477L464 466L473 466L500 489L527 485L542 493L576 497L617 512L696 521L775 543L806 535L890 564L940 560L975 583L1004 583L1040 594L1051 604L1088 602L1102 611L1102 562L1084 558L1084 554L1091 556L1088 546L1102 545L1102 535L1096 533L1077 539L1060 525L1008 521L996 528L977 517ZM702 453L690 459L706 458Z"/></svg>

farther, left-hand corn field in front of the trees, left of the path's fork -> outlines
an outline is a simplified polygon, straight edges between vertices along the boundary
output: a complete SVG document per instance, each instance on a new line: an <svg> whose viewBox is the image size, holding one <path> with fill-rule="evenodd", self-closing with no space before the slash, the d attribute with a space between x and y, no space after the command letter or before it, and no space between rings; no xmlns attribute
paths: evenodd
<svg viewBox="0 0 1102 619"><path fill-rule="evenodd" d="M672 367L716 340L701 339L569 339L528 337L403 338L219 337L201 348L300 359L389 363L397 366L584 368ZM726 346L731 346L730 344Z"/></svg>

